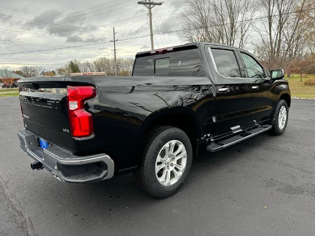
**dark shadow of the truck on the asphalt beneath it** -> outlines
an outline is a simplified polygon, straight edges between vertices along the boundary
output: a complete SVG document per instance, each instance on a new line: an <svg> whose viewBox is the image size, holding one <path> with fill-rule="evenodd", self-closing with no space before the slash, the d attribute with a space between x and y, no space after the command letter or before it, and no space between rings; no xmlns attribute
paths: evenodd
<svg viewBox="0 0 315 236"><path fill-rule="evenodd" d="M270 142L274 142L274 140L268 141L270 137L268 134L262 134L219 152L200 151L199 155L192 161L189 177L183 187L178 193L168 198L157 199L144 193L136 185L131 173L91 184L59 184L57 185L59 189L54 191L55 196L53 198L73 209L73 214L81 219L86 219L95 213L100 217L105 217L108 212L121 215L124 218L126 212L131 213L133 211L133 213L138 212L140 214L139 206L142 209L151 208L152 205L175 202L178 199L189 202L200 186L205 187L205 182L207 182L207 188L212 188L211 185L214 183L211 180L211 173L214 170L224 170L229 162L239 161L239 159L246 162L249 156L259 158L257 156L252 157L254 155L252 148L268 146ZM224 170L224 173L227 171L230 172L231 170ZM62 193L62 199L59 199L58 193ZM73 198L76 199L75 202L72 201Z"/></svg>

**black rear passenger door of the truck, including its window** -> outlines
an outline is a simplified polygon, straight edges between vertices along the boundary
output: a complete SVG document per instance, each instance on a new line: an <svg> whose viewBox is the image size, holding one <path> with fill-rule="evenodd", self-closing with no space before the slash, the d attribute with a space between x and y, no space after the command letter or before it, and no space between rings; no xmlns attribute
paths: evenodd
<svg viewBox="0 0 315 236"><path fill-rule="evenodd" d="M215 117L217 135L245 127L251 117L251 84L233 48L208 47L216 75Z"/></svg>

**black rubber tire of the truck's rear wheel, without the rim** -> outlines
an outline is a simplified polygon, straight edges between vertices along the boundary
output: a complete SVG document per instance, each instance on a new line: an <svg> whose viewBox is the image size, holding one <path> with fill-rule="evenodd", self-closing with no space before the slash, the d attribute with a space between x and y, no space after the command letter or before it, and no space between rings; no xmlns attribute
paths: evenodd
<svg viewBox="0 0 315 236"><path fill-rule="evenodd" d="M182 176L173 185L162 185L156 176L155 165L161 148L171 140L180 141L187 152L186 167ZM138 186L146 193L164 198L176 193L184 184L191 167L192 148L187 134L176 127L159 126L151 130L142 149L139 167L133 172Z"/></svg>

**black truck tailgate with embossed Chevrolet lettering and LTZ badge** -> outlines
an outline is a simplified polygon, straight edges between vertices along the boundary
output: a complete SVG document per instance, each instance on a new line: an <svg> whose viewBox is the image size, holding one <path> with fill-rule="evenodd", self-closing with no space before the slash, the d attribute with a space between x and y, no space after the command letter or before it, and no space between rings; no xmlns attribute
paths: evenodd
<svg viewBox="0 0 315 236"><path fill-rule="evenodd" d="M72 150L64 77L33 77L19 83L27 129L46 141Z"/></svg>

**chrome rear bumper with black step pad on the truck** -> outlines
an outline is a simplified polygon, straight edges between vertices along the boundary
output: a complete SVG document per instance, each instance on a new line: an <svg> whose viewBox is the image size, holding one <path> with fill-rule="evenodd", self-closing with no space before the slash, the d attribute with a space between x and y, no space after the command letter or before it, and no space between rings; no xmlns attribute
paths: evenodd
<svg viewBox="0 0 315 236"><path fill-rule="evenodd" d="M21 148L61 181L88 183L114 176L114 161L105 153L76 156L52 143L49 148L40 149L40 137L36 134L27 129L19 130L17 134Z"/></svg>

